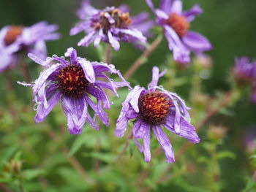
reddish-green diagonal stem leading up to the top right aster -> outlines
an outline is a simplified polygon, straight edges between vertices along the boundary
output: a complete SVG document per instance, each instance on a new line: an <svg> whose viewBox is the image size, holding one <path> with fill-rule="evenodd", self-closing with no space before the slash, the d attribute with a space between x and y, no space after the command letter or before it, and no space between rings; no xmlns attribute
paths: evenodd
<svg viewBox="0 0 256 192"><path fill-rule="evenodd" d="M128 69L127 73L124 74L124 78L128 79L132 76L132 74L138 69L140 64L143 63L143 60L145 58L148 58L149 55L157 48L157 46L162 41L162 35L159 35L157 39L154 40L154 42L151 43L151 45L142 53L142 55L135 61L134 64Z"/></svg>

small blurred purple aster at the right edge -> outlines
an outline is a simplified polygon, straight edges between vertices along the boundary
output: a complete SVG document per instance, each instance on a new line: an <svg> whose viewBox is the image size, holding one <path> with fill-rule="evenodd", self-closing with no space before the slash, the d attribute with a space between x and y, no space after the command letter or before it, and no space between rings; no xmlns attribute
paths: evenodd
<svg viewBox="0 0 256 192"><path fill-rule="evenodd" d="M246 84L256 81L256 61L250 63L249 58L236 58L233 68L233 76L236 82Z"/></svg>

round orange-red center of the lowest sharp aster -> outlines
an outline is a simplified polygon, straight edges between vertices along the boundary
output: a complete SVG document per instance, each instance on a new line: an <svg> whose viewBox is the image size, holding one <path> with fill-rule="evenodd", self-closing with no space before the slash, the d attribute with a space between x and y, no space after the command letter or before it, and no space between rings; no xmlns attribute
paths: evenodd
<svg viewBox="0 0 256 192"><path fill-rule="evenodd" d="M165 93L151 91L139 98L140 117L152 125L165 123L172 105L172 101L167 98Z"/></svg>

